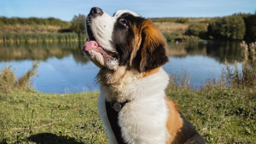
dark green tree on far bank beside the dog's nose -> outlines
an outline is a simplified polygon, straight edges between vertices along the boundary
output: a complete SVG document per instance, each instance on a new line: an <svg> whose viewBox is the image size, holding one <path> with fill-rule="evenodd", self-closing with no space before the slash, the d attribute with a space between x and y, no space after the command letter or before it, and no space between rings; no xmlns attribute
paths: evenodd
<svg viewBox="0 0 256 144"><path fill-rule="evenodd" d="M85 15L84 14L79 14L79 15L74 15L73 20L71 21L71 26L70 29L73 32L76 32L79 34L79 37L81 34L85 33Z"/></svg>

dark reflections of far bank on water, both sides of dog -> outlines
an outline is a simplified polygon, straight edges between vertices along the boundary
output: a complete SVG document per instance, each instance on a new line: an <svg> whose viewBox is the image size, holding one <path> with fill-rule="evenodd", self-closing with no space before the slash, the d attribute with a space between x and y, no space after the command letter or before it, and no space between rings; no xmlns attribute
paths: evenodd
<svg viewBox="0 0 256 144"><path fill-rule="evenodd" d="M188 55L204 55L224 63L241 61L241 42L191 42L168 43L168 56L185 58ZM84 43L0 43L0 60L47 60L62 59L73 55L78 63L86 64L81 48Z"/></svg>

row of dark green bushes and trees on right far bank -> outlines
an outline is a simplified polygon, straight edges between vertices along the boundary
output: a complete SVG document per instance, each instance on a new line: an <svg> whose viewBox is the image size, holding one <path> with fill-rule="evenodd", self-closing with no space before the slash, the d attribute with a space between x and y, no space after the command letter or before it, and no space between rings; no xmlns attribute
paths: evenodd
<svg viewBox="0 0 256 144"><path fill-rule="evenodd" d="M245 39L253 42L256 41L256 12L213 18L208 22L207 30L201 24L191 24L186 34L203 39Z"/></svg>

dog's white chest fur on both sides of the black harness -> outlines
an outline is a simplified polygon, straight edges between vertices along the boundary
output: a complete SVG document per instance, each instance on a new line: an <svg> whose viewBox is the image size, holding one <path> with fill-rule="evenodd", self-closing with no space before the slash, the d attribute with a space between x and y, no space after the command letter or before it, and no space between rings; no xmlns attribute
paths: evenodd
<svg viewBox="0 0 256 144"><path fill-rule="evenodd" d="M160 68L159 72L126 84L122 98L130 101L119 112L119 126L122 136L129 144L164 144L169 138L166 130L168 108L165 101L165 89L169 77ZM102 89L98 108L102 122L108 132L110 144L114 144L113 131L106 114L105 95L108 89Z"/></svg>

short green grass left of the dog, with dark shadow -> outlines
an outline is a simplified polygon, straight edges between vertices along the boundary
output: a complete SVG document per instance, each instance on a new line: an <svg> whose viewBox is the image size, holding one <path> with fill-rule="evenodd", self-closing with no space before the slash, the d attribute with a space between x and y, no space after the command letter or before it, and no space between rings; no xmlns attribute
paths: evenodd
<svg viewBox="0 0 256 144"><path fill-rule="evenodd" d="M32 89L0 94L0 143L107 143L99 93L55 95Z"/></svg>

